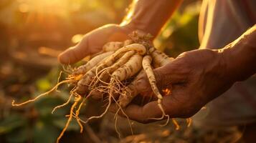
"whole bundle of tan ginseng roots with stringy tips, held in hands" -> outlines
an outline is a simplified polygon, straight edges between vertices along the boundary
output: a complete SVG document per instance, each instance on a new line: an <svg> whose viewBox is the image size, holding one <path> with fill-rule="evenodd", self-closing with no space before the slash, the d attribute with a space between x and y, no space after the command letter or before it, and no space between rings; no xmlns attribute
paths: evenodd
<svg viewBox="0 0 256 143"><path fill-rule="evenodd" d="M95 54L86 64L72 69L70 75L49 92L40 94L36 98L20 104L15 104L13 101L12 106L17 107L34 102L40 97L54 92L60 84L74 85L67 102L54 107L52 110L54 112L55 109L66 106L74 98L75 102L72 103L70 114L67 115L68 119L65 128L62 129L57 139L57 142L60 142L72 119L77 120L80 125L80 132L82 132L82 123L86 124L90 119L103 117L108 112L111 103L115 103L119 107L118 112L123 112L123 108L138 94L135 88L136 80L138 80L139 75L146 73L154 93L153 96L158 99L158 107L162 112L162 116L155 119L167 119L167 124L169 115L163 110L161 104L163 96L161 93L167 92L167 94L170 94L171 90L164 89L163 92L159 91L158 87L156 87L153 69L168 64L172 59L153 47L150 34L139 34L137 31L133 31L129 37L123 42L110 41L105 44L102 51ZM87 98L95 93L104 95L105 99L108 100L105 111L99 116L93 116L86 120L80 119L80 109L85 105ZM125 115L125 112L123 114ZM179 129L177 122L174 119L172 121L176 125L176 129Z"/></svg>

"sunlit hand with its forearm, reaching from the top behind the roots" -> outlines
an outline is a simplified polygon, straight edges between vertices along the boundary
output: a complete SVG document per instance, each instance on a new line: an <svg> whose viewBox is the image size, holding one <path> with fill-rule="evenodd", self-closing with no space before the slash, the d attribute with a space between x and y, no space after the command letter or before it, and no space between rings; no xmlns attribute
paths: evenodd
<svg viewBox="0 0 256 143"><path fill-rule="evenodd" d="M62 52L58 59L62 64L75 63L87 55L97 53L108 41L127 39L127 34L134 30L144 31L155 37L179 4L181 0L136 1L136 4L132 4L133 12L128 12L132 15L124 19L123 26L108 24L85 34L79 44Z"/></svg>

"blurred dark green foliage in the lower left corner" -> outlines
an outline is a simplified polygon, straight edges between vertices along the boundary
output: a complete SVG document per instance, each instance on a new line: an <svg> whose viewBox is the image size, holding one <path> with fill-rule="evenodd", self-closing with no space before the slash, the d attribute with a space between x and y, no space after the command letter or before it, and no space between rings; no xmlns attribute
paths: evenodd
<svg viewBox="0 0 256 143"><path fill-rule="evenodd" d="M59 68L54 68L49 71L47 76L38 79L35 82L37 92L32 94L32 97L36 97L39 93L47 92L52 88L53 84L57 82L59 71ZM57 109L54 114L51 113L54 107L64 103L69 97L67 87L60 87L60 90L62 92L53 92L36 102L16 107L19 110L14 109L8 116L0 120L0 137L5 137L5 142L15 143L28 142L29 140L37 143L55 142L61 129L65 127L67 122L65 115L70 110L70 106L67 106ZM72 121L67 131L78 132L79 129L78 124Z"/></svg>

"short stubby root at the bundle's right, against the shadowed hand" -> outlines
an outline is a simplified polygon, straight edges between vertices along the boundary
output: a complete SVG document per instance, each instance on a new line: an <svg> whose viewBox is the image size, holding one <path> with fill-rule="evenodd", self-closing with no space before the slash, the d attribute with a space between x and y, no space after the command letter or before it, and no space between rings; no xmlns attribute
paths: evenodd
<svg viewBox="0 0 256 143"><path fill-rule="evenodd" d="M174 58L169 58L169 56L158 49L151 51L151 57L153 58L152 65L154 68L164 66L174 60Z"/></svg>

